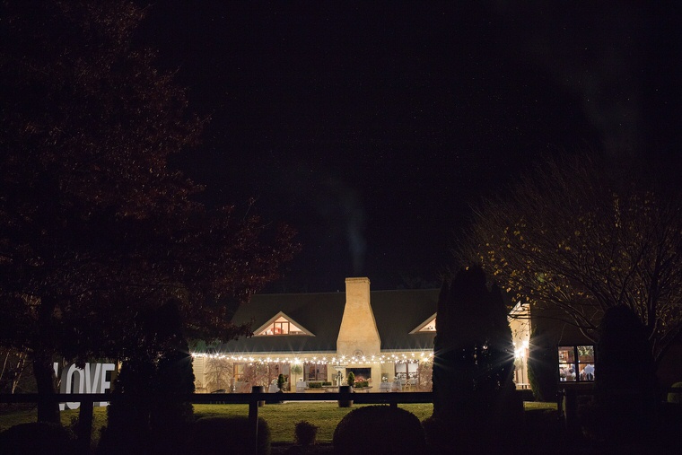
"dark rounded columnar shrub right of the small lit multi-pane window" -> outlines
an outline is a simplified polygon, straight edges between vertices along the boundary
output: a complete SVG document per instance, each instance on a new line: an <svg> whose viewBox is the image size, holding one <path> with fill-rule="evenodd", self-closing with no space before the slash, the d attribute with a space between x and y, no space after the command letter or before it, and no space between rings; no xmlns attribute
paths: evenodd
<svg viewBox="0 0 682 455"><path fill-rule="evenodd" d="M651 442L656 422L655 363L646 328L625 305L599 325L593 431L608 443Z"/></svg>

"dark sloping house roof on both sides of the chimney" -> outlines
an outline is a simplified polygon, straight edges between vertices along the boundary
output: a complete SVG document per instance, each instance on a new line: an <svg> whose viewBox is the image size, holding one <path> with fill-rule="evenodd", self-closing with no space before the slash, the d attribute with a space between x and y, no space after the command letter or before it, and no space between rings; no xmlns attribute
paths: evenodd
<svg viewBox="0 0 682 455"><path fill-rule="evenodd" d="M436 312L438 294L438 289L371 291L382 352L433 348L435 333L410 332ZM232 319L235 323L250 321L256 329L281 312L314 336L243 337L219 350L225 354L336 354L344 308L345 293L256 294L251 302L240 305Z"/></svg>

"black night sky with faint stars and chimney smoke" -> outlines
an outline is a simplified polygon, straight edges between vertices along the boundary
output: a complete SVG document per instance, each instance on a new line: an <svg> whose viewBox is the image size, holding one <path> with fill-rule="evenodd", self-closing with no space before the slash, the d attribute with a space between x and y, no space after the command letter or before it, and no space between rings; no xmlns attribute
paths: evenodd
<svg viewBox="0 0 682 455"><path fill-rule="evenodd" d="M675 156L678 12L550 3L159 0L142 39L212 117L178 163L205 199L298 230L272 291L394 289L541 156Z"/></svg>

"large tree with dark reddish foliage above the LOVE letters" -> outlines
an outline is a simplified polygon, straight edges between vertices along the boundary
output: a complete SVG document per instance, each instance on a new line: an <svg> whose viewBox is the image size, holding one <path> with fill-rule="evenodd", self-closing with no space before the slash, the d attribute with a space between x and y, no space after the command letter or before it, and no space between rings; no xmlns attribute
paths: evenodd
<svg viewBox="0 0 682 455"><path fill-rule="evenodd" d="M296 249L253 207L197 203L202 187L171 169L205 119L134 44L143 16L123 1L0 4L0 344L31 353L44 395L55 355L153 346L138 315L170 297L188 336L249 333L233 306ZM57 422L56 405L39 419Z"/></svg>

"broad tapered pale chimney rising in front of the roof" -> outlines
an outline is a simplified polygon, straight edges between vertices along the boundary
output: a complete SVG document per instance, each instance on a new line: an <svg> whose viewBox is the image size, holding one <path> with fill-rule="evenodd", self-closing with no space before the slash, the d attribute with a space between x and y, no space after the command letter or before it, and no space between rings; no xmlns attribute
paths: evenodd
<svg viewBox="0 0 682 455"><path fill-rule="evenodd" d="M345 278L345 309L338 331L338 355L379 354L381 340L370 303L369 278Z"/></svg>

